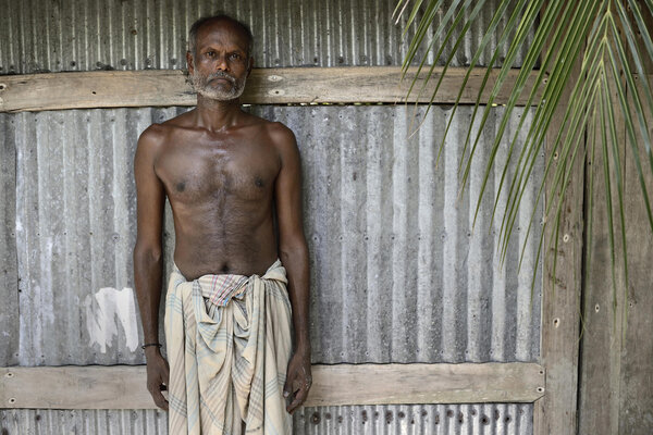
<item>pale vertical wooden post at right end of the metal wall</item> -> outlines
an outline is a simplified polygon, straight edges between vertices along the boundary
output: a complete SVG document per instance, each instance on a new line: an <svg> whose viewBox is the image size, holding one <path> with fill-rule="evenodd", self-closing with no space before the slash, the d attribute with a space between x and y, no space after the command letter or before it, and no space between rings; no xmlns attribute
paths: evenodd
<svg viewBox="0 0 653 435"><path fill-rule="evenodd" d="M555 156L554 142L567 109L569 96L580 72L580 62L574 66L568 85L554 113L545 138L546 158ZM570 164L558 159L555 165ZM551 192L555 165L545 181L545 191ZM554 277L554 216L546 225L543 247L542 274L542 365L546 368L546 395L533 408L534 435L576 435L577 380L579 356L579 318L583 247L583 160L577 157L562 206L557 246L557 266ZM558 197L545 198L545 203L557 203ZM555 208L555 207L554 207Z"/></svg>

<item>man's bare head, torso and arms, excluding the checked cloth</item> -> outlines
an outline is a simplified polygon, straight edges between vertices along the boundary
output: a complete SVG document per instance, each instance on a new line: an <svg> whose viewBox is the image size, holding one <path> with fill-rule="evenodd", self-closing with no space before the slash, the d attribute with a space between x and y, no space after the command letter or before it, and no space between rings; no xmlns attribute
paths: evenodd
<svg viewBox="0 0 653 435"><path fill-rule="evenodd" d="M311 383L308 249L297 145L283 124L241 110L238 97L254 61L251 34L243 24L224 15L204 18L189 39L186 60L197 107L148 127L134 160L134 277L145 344L151 345L144 348L147 387L157 406L168 410L161 390L169 368L158 346L168 196L176 235L174 261L188 282L206 274L262 276L278 258L285 266L295 337L283 395L292 413Z"/></svg>

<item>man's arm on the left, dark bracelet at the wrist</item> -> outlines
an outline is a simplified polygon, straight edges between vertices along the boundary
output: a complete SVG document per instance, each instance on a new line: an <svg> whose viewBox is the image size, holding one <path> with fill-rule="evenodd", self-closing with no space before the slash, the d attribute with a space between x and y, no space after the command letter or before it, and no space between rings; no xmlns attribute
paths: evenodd
<svg viewBox="0 0 653 435"><path fill-rule="evenodd" d="M161 300L164 189L155 173L155 159L161 141L156 126L146 129L138 139L134 158L137 198L137 235L134 247L134 281L143 334L146 344L159 343L159 303ZM168 410L168 401L161 394L161 385L168 385L168 362L158 346L145 348L147 359L147 388L161 409Z"/></svg>

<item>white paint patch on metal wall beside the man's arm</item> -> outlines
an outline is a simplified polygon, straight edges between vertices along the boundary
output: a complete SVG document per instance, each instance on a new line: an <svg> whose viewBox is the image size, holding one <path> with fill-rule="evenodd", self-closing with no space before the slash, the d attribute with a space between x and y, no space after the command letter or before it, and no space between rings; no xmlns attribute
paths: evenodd
<svg viewBox="0 0 653 435"><path fill-rule="evenodd" d="M112 287L100 288L95 295L86 297L84 307L90 346L97 344L100 346L100 351L106 353L107 346L112 346L113 337L119 336L120 324L127 348L131 351L136 350L138 325L132 288L125 287L122 290Z"/></svg>

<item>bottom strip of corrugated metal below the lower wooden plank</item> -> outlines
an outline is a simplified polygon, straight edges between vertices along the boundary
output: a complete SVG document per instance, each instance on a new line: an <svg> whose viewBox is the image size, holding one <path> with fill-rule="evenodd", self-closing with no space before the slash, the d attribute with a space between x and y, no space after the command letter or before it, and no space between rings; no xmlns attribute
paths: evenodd
<svg viewBox="0 0 653 435"><path fill-rule="evenodd" d="M523 435L532 433L532 405L404 405L300 408L297 435ZM163 411L14 410L0 412L8 434L168 433ZM5 434L3 432L3 434Z"/></svg>

